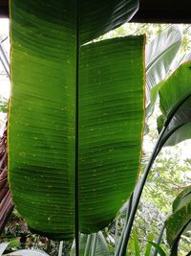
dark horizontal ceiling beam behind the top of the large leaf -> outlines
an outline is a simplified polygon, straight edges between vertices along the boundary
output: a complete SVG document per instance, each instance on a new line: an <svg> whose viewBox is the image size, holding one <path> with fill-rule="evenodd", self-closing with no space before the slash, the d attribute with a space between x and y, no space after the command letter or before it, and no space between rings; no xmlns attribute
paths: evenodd
<svg viewBox="0 0 191 256"><path fill-rule="evenodd" d="M191 0L139 0L139 3L134 22L191 23ZM0 0L0 16L9 17L9 0Z"/></svg>

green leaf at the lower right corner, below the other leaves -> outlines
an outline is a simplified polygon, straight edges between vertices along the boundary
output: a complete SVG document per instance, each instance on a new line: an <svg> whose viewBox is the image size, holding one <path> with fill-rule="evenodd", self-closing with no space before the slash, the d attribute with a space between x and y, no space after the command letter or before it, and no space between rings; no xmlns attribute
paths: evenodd
<svg viewBox="0 0 191 256"><path fill-rule="evenodd" d="M191 220L191 186L184 189L173 202L173 213L165 221L168 244L179 243L180 235Z"/></svg>

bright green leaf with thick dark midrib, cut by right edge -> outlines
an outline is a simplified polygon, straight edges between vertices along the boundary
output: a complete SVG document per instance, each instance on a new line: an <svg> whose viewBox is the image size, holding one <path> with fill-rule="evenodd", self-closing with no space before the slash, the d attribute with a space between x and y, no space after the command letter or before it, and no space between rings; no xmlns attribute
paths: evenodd
<svg viewBox="0 0 191 256"><path fill-rule="evenodd" d="M184 139L190 138L190 81L191 62L186 62L181 64L179 69L167 81L160 83L160 108L165 122L168 124L162 137L162 145L172 146Z"/></svg>

